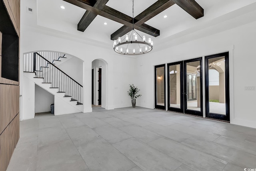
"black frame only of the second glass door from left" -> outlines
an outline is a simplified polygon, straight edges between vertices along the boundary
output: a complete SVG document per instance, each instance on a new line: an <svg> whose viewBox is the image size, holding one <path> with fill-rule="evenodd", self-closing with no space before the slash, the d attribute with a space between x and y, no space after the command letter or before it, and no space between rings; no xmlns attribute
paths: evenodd
<svg viewBox="0 0 256 171"><path fill-rule="evenodd" d="M180 108L174 108L170 106L170 66L172 65L178 65L180 64ZM184 99L183 99L183 94L184 94L184 89L183 89L183 61L178 61L178 62L173 62L173 63L168 63L167 64L167 88L168 88L168 110L173 111L173 112L180 112L184 113ZM177 94L178 95L178 94Z"/></svg>

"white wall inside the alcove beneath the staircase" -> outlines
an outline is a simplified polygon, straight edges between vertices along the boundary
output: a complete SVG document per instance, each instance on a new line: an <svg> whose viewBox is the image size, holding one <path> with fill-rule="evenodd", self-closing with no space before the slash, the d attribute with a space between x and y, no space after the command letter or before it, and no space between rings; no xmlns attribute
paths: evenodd
<svg viewBox="0 0 256 171"><path fill-rule="evenodd" d="M49 112L54 103L54 95L35 85L35 113Z"/></svg>

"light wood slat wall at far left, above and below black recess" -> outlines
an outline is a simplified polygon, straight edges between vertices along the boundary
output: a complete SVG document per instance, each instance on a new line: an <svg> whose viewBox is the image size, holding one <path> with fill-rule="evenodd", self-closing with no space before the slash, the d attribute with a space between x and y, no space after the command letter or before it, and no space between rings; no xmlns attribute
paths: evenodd
<svg viewBox="0 0 256 171"><path fill-rule="evenodd" d="M20 37L20 0L2 1ZM0 39L1 37L2 35ZM6 171L20 137L19 94L19 82L2 78L0 75L0 171Z"/></svg>

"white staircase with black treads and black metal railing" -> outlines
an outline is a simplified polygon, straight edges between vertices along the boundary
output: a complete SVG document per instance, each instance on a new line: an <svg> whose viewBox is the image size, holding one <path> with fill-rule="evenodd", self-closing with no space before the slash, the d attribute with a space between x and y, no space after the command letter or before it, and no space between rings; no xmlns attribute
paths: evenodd
<svg viewBox="0 0 256 171"><path fill-rule="evenodd" d="M83 86L56 66L63 59L65 54L55 52L25 54L24 76L82 112Z"/></svg>

